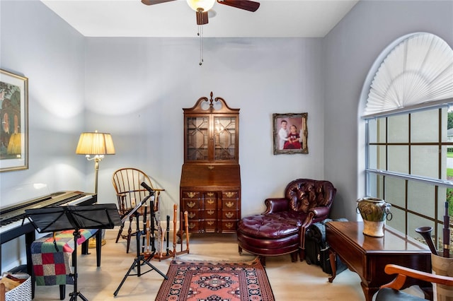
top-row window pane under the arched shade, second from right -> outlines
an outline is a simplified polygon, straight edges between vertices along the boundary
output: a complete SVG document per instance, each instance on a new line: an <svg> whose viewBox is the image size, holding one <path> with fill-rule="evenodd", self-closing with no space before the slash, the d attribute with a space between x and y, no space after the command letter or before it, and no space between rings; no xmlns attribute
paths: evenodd
<svg viewBox="0 0 453 301"><path fill-rule="evenodd" d="M439 141L439 110L411 114L411 142Z"/></svg>

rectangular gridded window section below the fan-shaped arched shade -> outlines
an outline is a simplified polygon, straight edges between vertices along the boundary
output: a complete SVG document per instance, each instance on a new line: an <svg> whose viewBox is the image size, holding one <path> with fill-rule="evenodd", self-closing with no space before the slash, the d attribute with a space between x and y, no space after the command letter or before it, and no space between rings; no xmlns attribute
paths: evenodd
<svg viewBox="0 0 453 301"><path fill-rule="evenodd" d="M366 122L367 195L391 203L387 225L412 237L430 226L442 237L445 201L453 213L453 112L442 106Z"/></svg>

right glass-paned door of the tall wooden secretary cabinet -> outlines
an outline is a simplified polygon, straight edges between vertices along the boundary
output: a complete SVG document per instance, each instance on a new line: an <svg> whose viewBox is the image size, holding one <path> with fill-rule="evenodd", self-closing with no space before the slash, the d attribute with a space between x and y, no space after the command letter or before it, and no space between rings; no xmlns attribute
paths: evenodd
<svg viewBox="0 0 453 301"><path fill-rule="evenodd" d="M236 117L214 117L214 160L236 160Z"/></svg>

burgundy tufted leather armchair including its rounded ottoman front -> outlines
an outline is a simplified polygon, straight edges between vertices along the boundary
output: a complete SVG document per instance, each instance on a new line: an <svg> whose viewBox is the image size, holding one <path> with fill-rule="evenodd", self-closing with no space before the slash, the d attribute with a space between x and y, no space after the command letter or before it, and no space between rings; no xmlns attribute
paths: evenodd
<svg viewBox="0 0 453 301"><path fill-rule="evenodd" d="M239 253L246 250L260 256L291 254L292 261L305 257L305 230L328 218L336 188L328 181L295 179L287 184L284 198L265 200L266 210L242 218L238 223Z"/></svg>

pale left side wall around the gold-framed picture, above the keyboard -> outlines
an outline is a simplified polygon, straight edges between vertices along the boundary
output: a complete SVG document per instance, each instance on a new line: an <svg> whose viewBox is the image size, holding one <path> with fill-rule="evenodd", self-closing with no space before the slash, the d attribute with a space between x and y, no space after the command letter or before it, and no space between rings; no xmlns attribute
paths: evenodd
<svg viewBox="0 0 453 301"><path fill-rule="evenodd" d="M28 77L30 149L28 170L0 173L0 206L20 201L8 197L20 185L84 191L86 162L75 154L84 124L84 37L40 1L0 1L0 13L0 68ZM1 246L2 271L25 260L24 241Z"/></svg>

